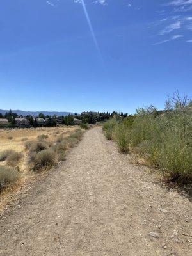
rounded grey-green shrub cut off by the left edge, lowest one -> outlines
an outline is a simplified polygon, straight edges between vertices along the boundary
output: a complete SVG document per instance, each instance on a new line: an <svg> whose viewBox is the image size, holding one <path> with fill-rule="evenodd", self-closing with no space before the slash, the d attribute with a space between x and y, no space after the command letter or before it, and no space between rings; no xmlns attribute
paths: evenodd
<svg viewBox="0 0 192 256"><path fill-rule="evenodd" d="M19 178L19 173L6 166L0 166L0 191L8 184L14 184Z"/></svg>

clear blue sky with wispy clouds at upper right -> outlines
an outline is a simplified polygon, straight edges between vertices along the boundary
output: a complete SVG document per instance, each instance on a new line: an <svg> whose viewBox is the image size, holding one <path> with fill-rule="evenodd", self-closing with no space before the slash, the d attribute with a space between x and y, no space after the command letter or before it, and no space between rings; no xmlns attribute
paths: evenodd
<svg viewBox="0 0 192 256"><path fill-rule="evenodd" d="M124 111L191 97L192 0L6 0L0 109Z"/></svg>

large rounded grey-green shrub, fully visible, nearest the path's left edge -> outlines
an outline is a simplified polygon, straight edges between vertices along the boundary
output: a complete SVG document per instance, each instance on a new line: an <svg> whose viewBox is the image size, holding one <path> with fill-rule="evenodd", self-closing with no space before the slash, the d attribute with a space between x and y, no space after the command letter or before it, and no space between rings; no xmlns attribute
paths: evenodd
<svg viewBox="0 0 192 256"><path fill-rule="evenodd" d="M33 170L42 170L42 168L51 168L57 161L56 153L53 150L45 149L31 156L29 163Z"/></svg>

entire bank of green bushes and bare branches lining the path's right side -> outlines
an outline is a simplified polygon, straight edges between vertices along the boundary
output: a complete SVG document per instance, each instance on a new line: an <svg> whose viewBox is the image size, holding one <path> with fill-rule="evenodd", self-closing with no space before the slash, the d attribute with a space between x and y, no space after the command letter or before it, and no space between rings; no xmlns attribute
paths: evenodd
<svg viewBox="0 0 192 256"><path fill-rule="evenodd" d="M172 181L192 179L192 103L176 93L165 111L137 109L135 115L114 116L103 125L108 140L116 141L120 152L133 153L145 164L160 168Z"/></svg>

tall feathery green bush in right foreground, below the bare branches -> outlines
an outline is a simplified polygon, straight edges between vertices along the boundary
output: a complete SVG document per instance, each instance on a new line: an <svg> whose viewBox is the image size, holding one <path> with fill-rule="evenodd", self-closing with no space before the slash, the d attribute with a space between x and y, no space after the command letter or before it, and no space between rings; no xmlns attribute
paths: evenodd
<svg viewBox="0 0 192 256"><path fill-rule="evenodd" d="M192 177L191 111L138 116L130 132L134 151L172 180Z"/></svg>

